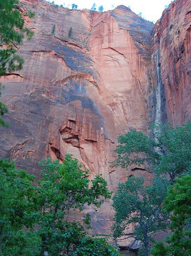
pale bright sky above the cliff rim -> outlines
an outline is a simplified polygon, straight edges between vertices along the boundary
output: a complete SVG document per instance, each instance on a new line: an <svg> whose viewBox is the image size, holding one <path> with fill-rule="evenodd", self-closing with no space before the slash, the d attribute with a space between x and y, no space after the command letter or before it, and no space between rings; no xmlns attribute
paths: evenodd
<svg viewBox="0 0 191 256"><path fill-rule="evenodd" d="M48 0L52 2L52 0ZM64 4L64 7L71 8L71 4L78 5L78 9L90 9L95 3L98 6L102 5L104 11L112 10L118 5L130 6L131 11L139 14L142 13L148 21L156 22L161 18L162 11L165 9L165 5L169 5L171 0L54 0L55 4ZM69 6L70 5L70 6Z"/></svg>

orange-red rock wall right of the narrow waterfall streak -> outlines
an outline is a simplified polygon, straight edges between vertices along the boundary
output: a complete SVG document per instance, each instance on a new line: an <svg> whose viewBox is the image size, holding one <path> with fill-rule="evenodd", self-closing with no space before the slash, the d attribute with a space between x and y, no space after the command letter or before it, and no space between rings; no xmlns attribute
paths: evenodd
<svg viewBox="0 0 191 256"><path fill-rule="evenodd" d="M176 0L163 11L152 35L160 52L168 120L181 125L191 118L191 0Z"/></svg>

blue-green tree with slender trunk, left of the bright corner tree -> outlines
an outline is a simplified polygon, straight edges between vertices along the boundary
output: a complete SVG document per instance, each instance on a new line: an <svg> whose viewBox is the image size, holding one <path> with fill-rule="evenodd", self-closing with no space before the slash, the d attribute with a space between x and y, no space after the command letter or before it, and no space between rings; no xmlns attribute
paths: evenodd
<svg viewBox="0 0 191 256"><path fill-rule="evenodd" d="M166 196L167 181L155 178L152 186L147 188L143 183L142 177L132 176L125 183L119 184L113 197L113 229L114 237L117 238L121 237L129 225L133 225L134 232L130 237L134 237L134 242L141 241L143 245L139 255L149 256L153 234L166 229L168 216L161 204Z"/></svg>

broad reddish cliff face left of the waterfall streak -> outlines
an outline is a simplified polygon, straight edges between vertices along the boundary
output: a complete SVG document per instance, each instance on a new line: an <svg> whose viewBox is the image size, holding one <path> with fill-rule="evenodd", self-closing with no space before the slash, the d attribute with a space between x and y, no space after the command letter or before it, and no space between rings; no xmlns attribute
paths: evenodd
<svg viewBox="0 0 191 256"><path fill-rule="evenodd" d="M22 0L26 10L35 33L20 47L23 69L1 77L10 128L0 154L38 175L42 158L71 153L114 189L130 174L110 163L117 137L148 128L153 24L125 6L100 13Z"/></svg>

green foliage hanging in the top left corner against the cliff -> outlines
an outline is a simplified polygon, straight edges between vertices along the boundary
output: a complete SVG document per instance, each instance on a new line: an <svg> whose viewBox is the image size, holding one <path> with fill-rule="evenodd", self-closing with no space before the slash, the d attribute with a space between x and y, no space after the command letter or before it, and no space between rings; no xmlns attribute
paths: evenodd
<svg viewBox="0 0 191 256"><path fill-rule="evenodd" d="M16 54L15 46L22 43L24 34L30 39L33 32L24 27L24 20L17 10L18 0L0 1L0 44L7 44L7 49L0 50L0 75L7 71L20 70L22 58Z"/></svg>

